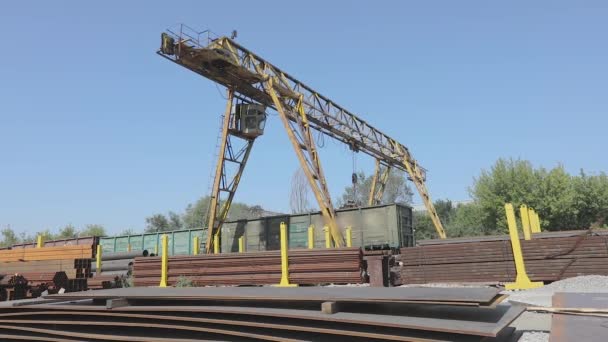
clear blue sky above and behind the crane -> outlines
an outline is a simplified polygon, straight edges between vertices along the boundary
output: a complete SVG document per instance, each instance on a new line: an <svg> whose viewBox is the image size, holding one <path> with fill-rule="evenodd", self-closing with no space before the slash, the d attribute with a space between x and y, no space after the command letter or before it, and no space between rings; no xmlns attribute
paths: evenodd
<svg viewBox="0 0 608 342"><path fill-rule="evenodd" d="M468 198L499 157L607 170L607 18L605 1L6 2L0 227L139 230L207 193L225 103L155 54L181 22L237 29L242 45L409 146L435 199ZM338 197L351 154L330 142L321 153ZM287 211L297 167L270 117L236 200ZM359 155L357 168L373 161Z"/></svg>

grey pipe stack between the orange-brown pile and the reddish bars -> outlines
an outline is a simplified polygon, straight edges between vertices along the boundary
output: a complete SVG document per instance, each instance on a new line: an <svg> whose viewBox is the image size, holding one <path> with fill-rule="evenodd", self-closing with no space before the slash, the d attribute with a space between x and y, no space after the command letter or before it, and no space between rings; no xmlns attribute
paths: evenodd
<svg viewBox="0 0 608 342"><path fill-rule="evenodd" d="M131 275L135 257L147 257L147 250L116 252L101 254L101 270L97 272L96 264L93 264L95 274L88 281L91 290L110 289L122 287L122 284Z"/></svg>

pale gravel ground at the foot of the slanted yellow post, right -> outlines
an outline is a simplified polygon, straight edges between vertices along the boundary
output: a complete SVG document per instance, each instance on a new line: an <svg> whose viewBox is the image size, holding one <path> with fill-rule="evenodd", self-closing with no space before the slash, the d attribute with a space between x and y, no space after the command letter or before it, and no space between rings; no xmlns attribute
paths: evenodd
<svg viewBox="0 0 608 342"><path fill-rule="evenodd" d="M553 282L537 289L503 291L509 294L508 301L533 306L551 306L551 297L556 292L608 292L608 276L580 276Z"/></svg>

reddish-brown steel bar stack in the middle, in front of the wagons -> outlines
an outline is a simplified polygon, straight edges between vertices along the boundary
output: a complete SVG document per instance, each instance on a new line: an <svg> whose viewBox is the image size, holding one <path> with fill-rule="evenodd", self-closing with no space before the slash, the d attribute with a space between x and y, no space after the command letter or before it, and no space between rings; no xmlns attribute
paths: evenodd
<svg viewBox="0 0 608 342"><path fill-rule="evenodd" d="M278 284L279 251L225 253L169 258L170 285L181 277L196 286ZM135 258L135 286L156 286L161 258ZM364 282L360 248L294 249L289 251L289 279L295 284L358 284Z"/></svg>

